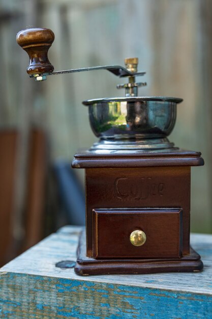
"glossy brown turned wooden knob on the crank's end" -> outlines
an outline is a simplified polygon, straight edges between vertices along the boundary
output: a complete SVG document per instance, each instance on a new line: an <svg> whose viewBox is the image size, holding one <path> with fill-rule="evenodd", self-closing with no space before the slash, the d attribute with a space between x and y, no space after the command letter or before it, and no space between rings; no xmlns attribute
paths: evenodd
<svg viewBox="0 0 212 319"><path fill-rule="evenodd" d="M48 60L48 49L54 41L50 29L33 28L20 31L16 36L17 43L29 56L28 74L51 73L53 65Z"/></svg>

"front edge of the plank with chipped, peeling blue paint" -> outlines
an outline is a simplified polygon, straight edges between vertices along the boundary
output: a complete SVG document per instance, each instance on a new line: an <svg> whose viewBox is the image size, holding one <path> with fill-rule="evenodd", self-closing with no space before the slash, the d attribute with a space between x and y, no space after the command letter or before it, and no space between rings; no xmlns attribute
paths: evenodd
<svg viewBox="0 0 212 319"><path fill-rule="evenodd" d="M31 309L34 309L38 318L44 315L45 318L83 319L212 317L212 298L203 294L107 283L90 284L90 281L62 278L43 277L43 280L39 280L37 276L35 280L36 276L24 274L16 274L12 278L10 274L4 276L10 291L3 291L8 298L0 300L3 318L28 319L23 308L30 296Z"/></svg>

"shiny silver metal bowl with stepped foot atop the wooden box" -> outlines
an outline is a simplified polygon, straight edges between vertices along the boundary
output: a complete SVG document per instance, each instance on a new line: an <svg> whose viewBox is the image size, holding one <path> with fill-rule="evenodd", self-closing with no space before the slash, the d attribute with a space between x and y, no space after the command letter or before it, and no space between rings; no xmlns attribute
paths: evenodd
<svg viewBox="0 0 212 319"><path fill-rule="evenodd" d="M163 96L117 97L83 101L90 126L100 138L91 150L172 148L166 138L176 120L181 98Z"/></svg>

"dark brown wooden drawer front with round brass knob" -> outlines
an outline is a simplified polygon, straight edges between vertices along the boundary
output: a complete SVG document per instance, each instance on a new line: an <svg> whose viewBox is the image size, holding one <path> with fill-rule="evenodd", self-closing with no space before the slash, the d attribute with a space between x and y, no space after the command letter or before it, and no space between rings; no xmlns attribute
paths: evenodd
<svg viewBox="0 0 212 319"><path fill-rule="evenodd" d="M95 258L181 257L181 208L93 209Z"/></svg>

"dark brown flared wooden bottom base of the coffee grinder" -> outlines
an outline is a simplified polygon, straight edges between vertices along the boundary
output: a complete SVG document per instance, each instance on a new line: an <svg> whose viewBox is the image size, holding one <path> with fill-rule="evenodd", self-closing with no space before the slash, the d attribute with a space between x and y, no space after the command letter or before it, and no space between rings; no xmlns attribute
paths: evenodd
<svg viewBox="0 0 212 319"><path fill-rule="evenodd" d="M168 272L198 272L203 269L200 255L190 248L181 258L95 259L86 257L85 230L79 238L75 273L77 275L151 274Z"/></svg>

